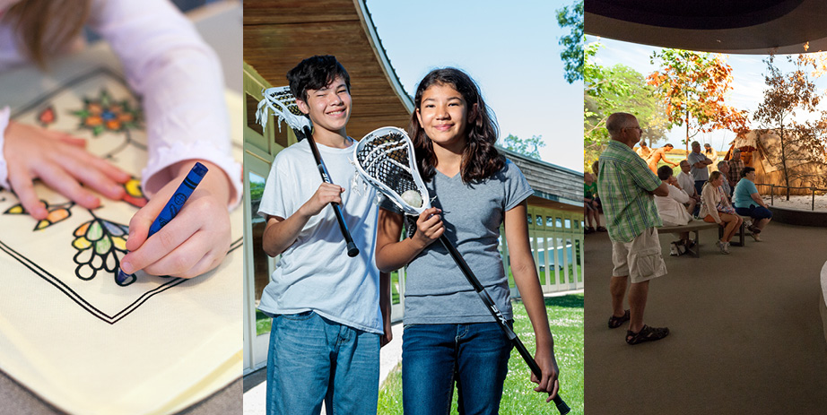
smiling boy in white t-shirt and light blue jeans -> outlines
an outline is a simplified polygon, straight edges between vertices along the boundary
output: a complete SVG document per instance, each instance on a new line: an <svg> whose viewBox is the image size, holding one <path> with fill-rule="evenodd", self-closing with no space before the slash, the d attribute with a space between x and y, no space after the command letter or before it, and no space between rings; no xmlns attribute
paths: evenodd
<svg viewBox="0 0 827 415"><path fill-rule="evenodd" d="M312 122L313 139L332 182L350 186L354 141L350 77L334 56L312 56L287 73L295 104ZM280 113L294 129L290 112ZM266 110L263 119L266 119ZM309 140L273 161L258 214L263 247L281 255L259 309L273 317L267 357L267 413L376 413L379 347L390 341L389 278L373 262L374 191L322 182ZM335 218L338 203L355 257ZM381 282L380 282L381 280ZM384 333L384 335L383 335Z"/></svg>

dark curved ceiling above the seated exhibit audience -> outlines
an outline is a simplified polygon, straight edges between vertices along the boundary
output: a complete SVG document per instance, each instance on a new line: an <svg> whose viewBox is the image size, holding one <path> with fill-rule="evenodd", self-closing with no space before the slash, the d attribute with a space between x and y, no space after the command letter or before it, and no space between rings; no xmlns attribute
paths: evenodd
<svg viewBox="0 0 827 415"><path fill-rule="evenodd" d="M586 0L588 34L732 54L827 50L823 0Z"/></svg>

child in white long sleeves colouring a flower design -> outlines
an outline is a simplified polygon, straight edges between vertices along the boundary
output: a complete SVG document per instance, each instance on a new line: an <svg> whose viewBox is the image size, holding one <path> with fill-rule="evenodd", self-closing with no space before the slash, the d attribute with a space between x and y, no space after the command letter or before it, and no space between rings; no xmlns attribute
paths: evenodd
<svg viewBox="0 0 827 415"><path fill-rule="evenodd" d="M45 68L83 45L86 25L109 42L142 96L149 143L142 187L152 198L130 221L126 248L133 252L121 269L189 278L221 264L241 170L230 154L221 65L187 18L168 0L0 0L0 15L0 71L26 63ZM35 178L88 209L100 205L91 190L125 197L131 177L85 151L83 139L17 123L9 112L0 109L0 187L13 190L32 218L48 215ZM152 220L199 160L210 173L176 220L147 239Z"/></svg>

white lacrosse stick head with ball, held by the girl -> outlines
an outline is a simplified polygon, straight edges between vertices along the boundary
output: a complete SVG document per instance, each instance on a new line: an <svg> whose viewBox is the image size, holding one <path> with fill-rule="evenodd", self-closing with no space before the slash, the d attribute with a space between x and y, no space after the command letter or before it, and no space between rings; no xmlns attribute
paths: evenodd
<svg viewBox="0 0 827 415"><path fill-rule="evenodd" d="M413 142L404 130L392 126L373 130L356 144L353 160L360 176L403 212L418 216L431 207L413 157Z"/></svg>

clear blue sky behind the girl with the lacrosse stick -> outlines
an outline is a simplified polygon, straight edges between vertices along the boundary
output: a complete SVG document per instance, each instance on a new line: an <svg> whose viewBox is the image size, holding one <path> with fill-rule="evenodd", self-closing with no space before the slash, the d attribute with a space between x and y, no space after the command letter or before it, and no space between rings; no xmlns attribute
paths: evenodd
<svg viewBox="0 0 827 415"><path fill-rule="evenodd" d="M431 69L463 69L479 83L502 137L542 135L544 161L583 171L583 83L563 79L558 39L568 30L555 12L570 2L366 3L405 91L413 95Z"/></svg>

